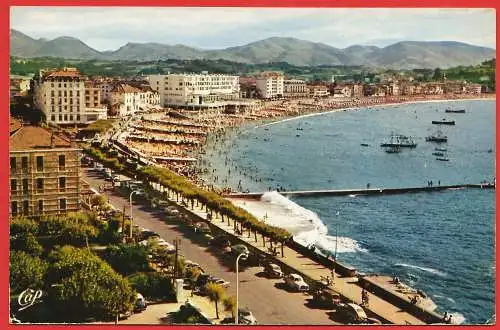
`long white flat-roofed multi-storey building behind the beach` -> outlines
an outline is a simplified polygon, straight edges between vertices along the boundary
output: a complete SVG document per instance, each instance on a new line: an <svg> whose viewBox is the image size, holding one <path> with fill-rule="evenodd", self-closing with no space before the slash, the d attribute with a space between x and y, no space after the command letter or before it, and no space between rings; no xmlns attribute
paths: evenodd
<svg viewBox="0 0 500 330"><path fill-rule="evenodd" d="M164 106L223 106L224 101L239 98L239 77L224 74L150 75L151 88L160 93Z"/></svg>

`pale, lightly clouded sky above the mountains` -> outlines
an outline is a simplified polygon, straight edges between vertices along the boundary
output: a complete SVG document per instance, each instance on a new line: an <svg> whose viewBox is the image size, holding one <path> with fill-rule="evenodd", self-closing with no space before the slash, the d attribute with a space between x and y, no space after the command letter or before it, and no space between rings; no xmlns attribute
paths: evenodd
<svg viewBox="0 0 500 330"><path fill-rule="evenodd" d="M75 37L99 51L127 42L220 49L269 37L337 48L403 40L496 48L494 9L11 7L10 26L35 39Z"/></svg>

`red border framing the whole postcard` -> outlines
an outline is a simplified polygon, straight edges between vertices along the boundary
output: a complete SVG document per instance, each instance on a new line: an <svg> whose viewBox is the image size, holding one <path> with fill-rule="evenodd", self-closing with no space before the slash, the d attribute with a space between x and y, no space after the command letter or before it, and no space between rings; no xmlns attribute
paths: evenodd
<svg viewBox="0 0 500 330"><path fill-rule="evenodd" d="M142 0L140 2L133 0L80 0L76 1L68 1L68 0L15 0L15 1L6 1L2 2L0 5L0 33L1 39L4 40L3 47L0 50L1 58L3 59L2 65L0 65L0 87L2 92L0 93L0 102L5 105L2 111L2 119L0 120L0 153L4 155L1 159L8 159L8 86L9 86L9 50L8 50L8 40L9 40L9 19L10 19L10 6L179 6L179 7L397 7L397 8L415 8L415 7L441 7L441 8L498 8L498 0L403 0L403 1L395 1L395 0L340 0L340 1L332 1L332 0ZM499 22L499 18L496 18L497 26ZM417 27L418 28L418 27ZM497 35L497 43L499 37ZM497 80L498 80L498 71L497 71ZM497 135L497 145L499 139ZM497 162L499 160L497 153ZM0 187L8 187L8 162L3 161L0 162ZM1 284L0 284L0 293L2 300L0 302L0 327L1 328L28 328L28 326L13 326L8 325L8 296L9 296L9 247L8 247L8 192L7 188L4 188L0 193L0 214L1 219L5 221L4 230L2 231L3 239L0 239L0 251L2 256L2 261L4 267L2 267L1 271ZM499 198L497 197L497 205ZM498 227L496 227L498 232ZM496 242L496 239L495 239ZM498 252L498 246L497 246ZM497 282L496 292L498 292L499 286ZM496 307L496 311L498 312L498 306ZM47 328L87 328L87 329L96 329L96 326L29 326L29 329L47 329ZM119 329L130 329L131 326L112 326ZM169 327L172 329L200 329L202 326L173 326ZM150 329L151 326L133 326L133 329ZM213 328L213 327L211 327ZM221 327L222 328L222 327ZM236 327L224 327L224 329L234 329ZM257 327L262 329L278 329L283 327L278 326L266 326L266 327ZM300 327L291 327L285 326L284 328L295 328L295 329L331 329L329 326L300 326ZM338 329L339 327L336 327ZM352 329L352 326L340 327ZM404 326L397 326L397 328L404 328ZM477 327L477 329L486 328L486 326ZM436 327L433 327L436 329ZM448 329L448 328L447 328Z"/></svg>

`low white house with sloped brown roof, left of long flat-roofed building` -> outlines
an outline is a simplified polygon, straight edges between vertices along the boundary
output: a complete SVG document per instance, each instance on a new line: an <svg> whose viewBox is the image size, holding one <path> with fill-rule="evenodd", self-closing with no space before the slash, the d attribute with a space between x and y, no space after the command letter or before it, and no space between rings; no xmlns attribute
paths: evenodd
<svg viewBox="0 0 500 330"><path fill-rule="evenodd" d="M110 101L119 116L128 116L138 111L158 108L160 94L150 89L143 90L128 84L117 84L110 93Z"/></svg>

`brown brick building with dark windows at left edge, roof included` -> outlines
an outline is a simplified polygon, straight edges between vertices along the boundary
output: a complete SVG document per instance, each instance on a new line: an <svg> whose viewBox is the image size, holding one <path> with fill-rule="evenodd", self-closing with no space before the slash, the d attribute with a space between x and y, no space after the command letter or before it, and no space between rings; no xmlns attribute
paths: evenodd
<svg viewBox="0 0 500 330"><path fill-rule="evenodd" d="M10 217L78 211L81 149L36 126L11 125L9 140Z"/></svg>

